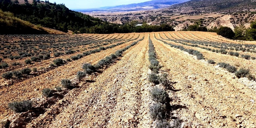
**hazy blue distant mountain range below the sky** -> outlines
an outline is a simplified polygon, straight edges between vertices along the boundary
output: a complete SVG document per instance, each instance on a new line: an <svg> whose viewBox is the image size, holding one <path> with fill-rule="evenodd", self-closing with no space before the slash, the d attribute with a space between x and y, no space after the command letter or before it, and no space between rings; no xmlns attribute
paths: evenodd
<svg viewBox="0 0 256 128"><path fill-rule="evenodd" d="M169 7L174 4L183 3L189 0L152 0L143 3L133 3L128 5L120 5L120 6L110 6L110 7L102 7L102 8L93 8L93 9L77 9L75 11L79 12L93 12L93 11L137 11L137 10L149 10L149 9L157 9Z"/></svg>

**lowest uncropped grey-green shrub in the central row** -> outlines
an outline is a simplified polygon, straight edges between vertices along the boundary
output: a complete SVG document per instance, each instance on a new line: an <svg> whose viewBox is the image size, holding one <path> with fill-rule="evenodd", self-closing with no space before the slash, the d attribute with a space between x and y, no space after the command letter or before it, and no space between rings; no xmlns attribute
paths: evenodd
<svg viewBox="0 0 256 128"><path fill-rule="evenodd" d="M161 103L153 103L149 107L149 115L153 120L161 120L166 116L166 106Z"/></svg>

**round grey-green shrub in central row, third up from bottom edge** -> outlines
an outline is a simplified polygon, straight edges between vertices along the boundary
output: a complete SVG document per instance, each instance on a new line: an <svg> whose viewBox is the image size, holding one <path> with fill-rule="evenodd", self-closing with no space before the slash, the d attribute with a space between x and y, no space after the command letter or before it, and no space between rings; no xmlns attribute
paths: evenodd
<svg viewBox="0 0 256 128"><path fill-rule="evenodd" d="M154 100L155 102L164 104L169 100L168 93L161 88L154 87L152 88L152 90L150 90L149 93L150 93L151 99Z"/></svg>

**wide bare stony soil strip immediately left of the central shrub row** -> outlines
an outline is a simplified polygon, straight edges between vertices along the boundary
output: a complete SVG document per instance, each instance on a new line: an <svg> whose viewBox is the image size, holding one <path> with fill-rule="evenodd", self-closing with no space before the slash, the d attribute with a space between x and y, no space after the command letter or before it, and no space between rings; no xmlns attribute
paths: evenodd
<svg viewBox="0 0 256 128"><path fill-rule="evenodd" d="M141 85L147 74L148 37L124 52L116 64L88 83L81 82L72 103L44 127L136 127L141 116ZM138 50L141 49L141 50ZM65 118L63 118L65 117ZM40 118L40 117L39 117Z"/></svg>

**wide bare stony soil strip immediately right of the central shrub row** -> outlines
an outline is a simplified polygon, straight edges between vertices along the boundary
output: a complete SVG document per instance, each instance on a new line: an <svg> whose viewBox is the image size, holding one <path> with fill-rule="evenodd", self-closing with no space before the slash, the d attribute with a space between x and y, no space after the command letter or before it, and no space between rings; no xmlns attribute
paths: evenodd
<svg viewBox="0 0 256 128"><path fill-rule="evenodd" d="M171 104L182 106L174 111L187 124L204 127L254 127L255 107L251 99L255 92L236 79L218 72L183 51L153 39L157 55L168 70L176 89ZM182 109L183 108L183 109ZM237 124L241 125L237 125Z"/></svg>

